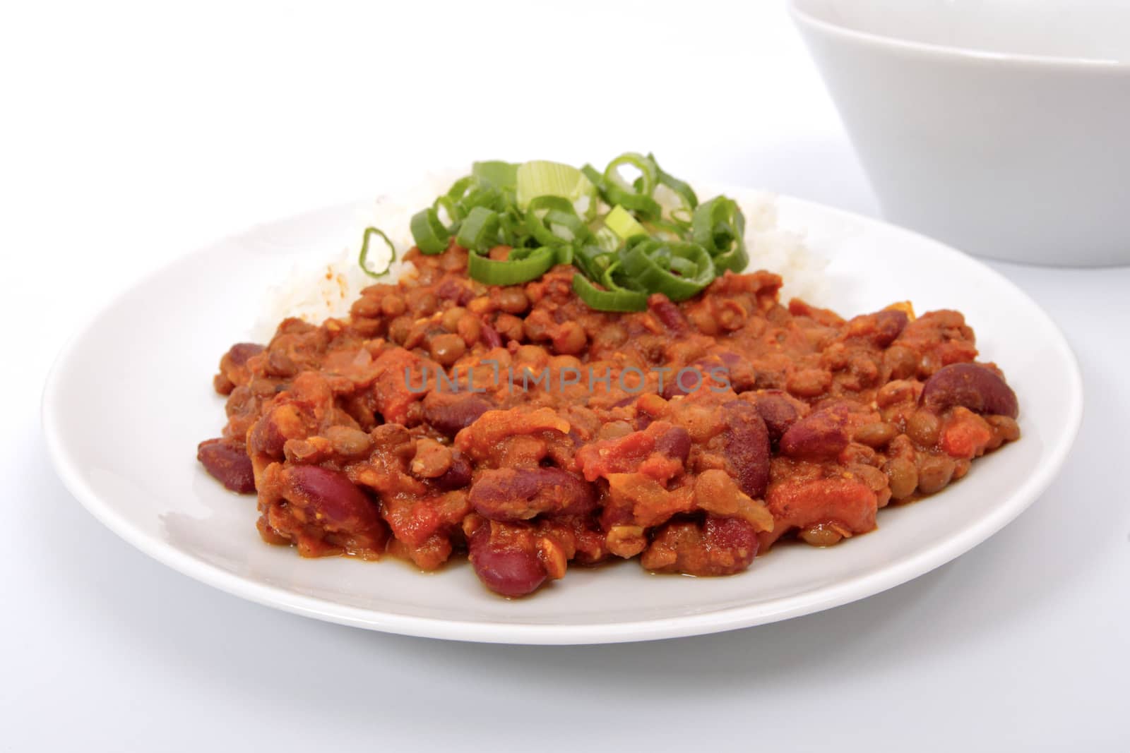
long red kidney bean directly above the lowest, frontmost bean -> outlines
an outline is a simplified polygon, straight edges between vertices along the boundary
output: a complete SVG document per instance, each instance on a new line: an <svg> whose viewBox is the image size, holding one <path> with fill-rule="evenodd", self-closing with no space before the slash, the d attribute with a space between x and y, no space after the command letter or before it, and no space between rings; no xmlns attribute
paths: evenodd
<svg viewBox="0 0 1130 753"><path fill-rule="evenodd" d="M479 475L469 501L492 520L528 520L537 515L590 513L597 507L597 492L560 469L497 469Z"/></svg>

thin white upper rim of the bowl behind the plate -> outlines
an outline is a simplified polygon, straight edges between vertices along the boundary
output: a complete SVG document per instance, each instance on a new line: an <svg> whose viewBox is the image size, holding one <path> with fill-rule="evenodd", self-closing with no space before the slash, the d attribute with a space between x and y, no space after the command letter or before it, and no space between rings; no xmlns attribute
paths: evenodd
<svg viewBox="0 0 1130 753"><path fill-rule="evenodd" d="M789 15L793 23L809 27L827 36L840 37L850 43L887 47L895 52L910 53L923 58L947 56L965 62L989 62L998 65L1060 68L1064 70L1087 70L1109 73L1130 72L1130 59L1111 60L1105 58L1085 58L1069 55L1040 55L1019 52L994 52L977 47L937 44L933 42L915 42L888 34L863 32L820 18L800 7L803 0L788 0Z"/></svg>

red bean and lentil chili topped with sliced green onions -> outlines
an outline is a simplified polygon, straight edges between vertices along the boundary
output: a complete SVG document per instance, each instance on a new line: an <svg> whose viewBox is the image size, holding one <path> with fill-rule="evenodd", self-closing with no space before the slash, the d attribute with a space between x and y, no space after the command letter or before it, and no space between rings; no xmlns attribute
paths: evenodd
<svg viewBox="0 0 1130 753"><path fill-rule="evenodd" d="M220 359L227 424L198 458L304 557L466 552L504 596L614 558L731 575L872 531L1019 437L962 314L782 303L745 272L741 205L650 155L478 163L409 226L402 254L364 231L379 280L348 314Z"/></svg>

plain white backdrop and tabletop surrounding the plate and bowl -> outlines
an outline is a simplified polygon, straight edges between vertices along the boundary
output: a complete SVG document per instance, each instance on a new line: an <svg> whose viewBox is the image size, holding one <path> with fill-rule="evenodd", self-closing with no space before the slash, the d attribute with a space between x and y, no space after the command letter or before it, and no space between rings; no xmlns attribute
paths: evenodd
<svg viewBox="0 0 1130 753"><path fill-rule="evenodd" d="M779 2L316 6L0 10L0 750L1127 750L1130 269L994 264L1078 353L1074 454L988 543L822 614L445 643L242 602L98 525L46 458L51 359L215 237L420 166L627 149L879 211Z"/></svg>

